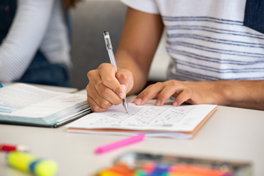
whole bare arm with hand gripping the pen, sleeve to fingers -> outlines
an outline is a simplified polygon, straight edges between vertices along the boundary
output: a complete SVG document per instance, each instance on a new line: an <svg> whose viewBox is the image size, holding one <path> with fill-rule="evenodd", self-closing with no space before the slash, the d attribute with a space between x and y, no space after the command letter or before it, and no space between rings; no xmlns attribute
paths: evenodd
<svg viewBox="0 0 264 176"><path fill-rule="evenodd" d="M143 89L162 31L159 15L128 8L115 55L118 72L113 65L104 63L87 74L87 102L92 111L106 111L113 104L120 104L127 93L135 94Z"/></svg>

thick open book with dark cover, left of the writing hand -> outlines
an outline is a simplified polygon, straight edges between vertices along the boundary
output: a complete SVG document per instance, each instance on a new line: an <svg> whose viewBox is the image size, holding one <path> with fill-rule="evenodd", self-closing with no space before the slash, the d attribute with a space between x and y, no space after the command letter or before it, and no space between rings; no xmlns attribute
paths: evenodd
<svg viewBox="0 0 264 176"><path fill-rule="evenodd" d="M0 89L0 123L58 127L90 112L86 95L23 83Z"/></svg>

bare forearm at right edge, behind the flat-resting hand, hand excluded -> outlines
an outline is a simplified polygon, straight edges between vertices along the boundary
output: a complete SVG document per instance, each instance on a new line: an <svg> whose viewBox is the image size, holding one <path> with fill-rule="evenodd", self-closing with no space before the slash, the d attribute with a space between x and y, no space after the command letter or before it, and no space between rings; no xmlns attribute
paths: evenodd
<svg viewBox="0 0 264 176"><path fill-rule="evenodd" d="M264 110L264 80L182 83L197 92L205 92L202 97L206 97L208 104Z"/></svg>

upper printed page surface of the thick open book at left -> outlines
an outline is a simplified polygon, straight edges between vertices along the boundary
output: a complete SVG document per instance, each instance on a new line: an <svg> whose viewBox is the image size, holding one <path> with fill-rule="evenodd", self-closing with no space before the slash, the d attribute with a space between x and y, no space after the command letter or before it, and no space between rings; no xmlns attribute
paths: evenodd
<svg viewBox="0 0 264 176"><path fill-rule="evenodd" d="M0 115L42 118L86 101L86 95L54 92L17 83L0 89Z"/></svg>

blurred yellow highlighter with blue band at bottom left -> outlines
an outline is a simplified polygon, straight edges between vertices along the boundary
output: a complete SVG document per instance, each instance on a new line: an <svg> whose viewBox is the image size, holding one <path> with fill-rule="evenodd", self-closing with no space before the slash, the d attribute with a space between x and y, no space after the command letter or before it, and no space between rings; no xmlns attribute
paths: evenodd
<svg viewBox="0 0 264 176"><path fill-rule="evenodd" d="M6 163L21 171L31 172L36 176L54 176L57 172L57 163L54 160L38 159L26 152L8 152Z"/></svg>

